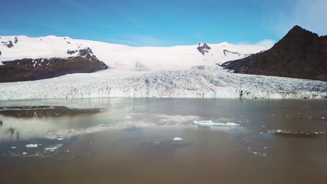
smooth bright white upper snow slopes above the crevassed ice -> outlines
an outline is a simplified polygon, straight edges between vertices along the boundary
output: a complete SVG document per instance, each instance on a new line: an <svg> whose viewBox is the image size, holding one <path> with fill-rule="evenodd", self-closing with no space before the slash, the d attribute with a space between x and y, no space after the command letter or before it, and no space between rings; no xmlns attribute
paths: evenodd
<svg viewBox="0 0 327 184"><path fill-rule="evenodd" d="M75 56L72 51L89 47L94 55L111 68L187 69L212 66L241 59L269 49L262 45L229 43L185 45L175 47L129 47L69 37L0 36L0 61ZM1 62L0 62L1 64Z"/></svg>

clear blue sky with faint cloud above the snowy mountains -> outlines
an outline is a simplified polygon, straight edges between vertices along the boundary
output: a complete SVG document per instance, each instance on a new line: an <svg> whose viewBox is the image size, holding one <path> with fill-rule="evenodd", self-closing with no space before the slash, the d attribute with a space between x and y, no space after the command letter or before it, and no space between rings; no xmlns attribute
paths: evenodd
<svg viewBox="0 0 327 184"><path fill-rule="evenodd" d="M327 34L325 0L11 0L0 35L69 36L131 46L279 40L295 24Z"/></svg>

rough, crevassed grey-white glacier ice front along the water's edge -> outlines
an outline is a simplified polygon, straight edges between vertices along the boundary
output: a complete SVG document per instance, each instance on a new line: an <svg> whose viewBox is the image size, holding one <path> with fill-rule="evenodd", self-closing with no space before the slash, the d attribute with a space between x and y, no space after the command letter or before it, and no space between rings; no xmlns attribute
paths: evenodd
<svg viewBox="0 0 327 184"><path fill-rule="evenodd" d="M35 98L327 98L327 82L203 70L111 68L31 82L0 84L0 100Z"/></svg>

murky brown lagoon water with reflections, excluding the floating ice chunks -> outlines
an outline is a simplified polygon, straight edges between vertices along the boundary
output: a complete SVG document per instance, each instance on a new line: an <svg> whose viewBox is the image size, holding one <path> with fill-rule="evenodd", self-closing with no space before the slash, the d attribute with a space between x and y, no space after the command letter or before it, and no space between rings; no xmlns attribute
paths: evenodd
<svg viewBox="0 0 327 184"><path fill-rule="evenodd" d="M327 100L98 98L0 107L10 112L0 112L1 183L327 182Z"/></svg>

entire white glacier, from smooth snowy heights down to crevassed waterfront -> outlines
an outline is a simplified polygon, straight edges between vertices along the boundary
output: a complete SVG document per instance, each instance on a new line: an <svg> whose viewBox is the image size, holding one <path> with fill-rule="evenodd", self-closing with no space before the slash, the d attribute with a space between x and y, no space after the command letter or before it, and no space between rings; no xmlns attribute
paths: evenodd
<svg viewBox="0 0 327 184"><path fill-rule="evenodd" d="M69 37L1 36L1 61L72 56L90 47L110 69L30 82L0 83L0 100L40 98L327 98L327 82L242 75L216 64L269 49L260 44L129 47ZM17 40L17 42L15 42ZM210 47L210 49L209 49Z"/></svg>

